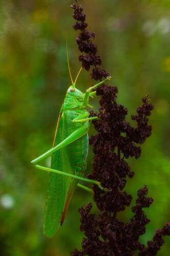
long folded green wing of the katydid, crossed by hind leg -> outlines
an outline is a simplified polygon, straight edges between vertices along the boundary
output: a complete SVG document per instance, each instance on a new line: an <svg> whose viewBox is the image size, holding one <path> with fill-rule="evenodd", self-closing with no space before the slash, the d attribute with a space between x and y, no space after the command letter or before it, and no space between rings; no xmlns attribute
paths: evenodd
<svg viewBox="0 0 170 256"><path fill-rule="evenodd" d="M65 135L64 115L62 114L59 116L54 145L59 144L67 136ZM65 148L53 154L51 168L65 173L71 172ZM60 226L70 182L71 178L69 177L55 173L50 174L43 225L44 234L49 238L54 236Z"/></svg>

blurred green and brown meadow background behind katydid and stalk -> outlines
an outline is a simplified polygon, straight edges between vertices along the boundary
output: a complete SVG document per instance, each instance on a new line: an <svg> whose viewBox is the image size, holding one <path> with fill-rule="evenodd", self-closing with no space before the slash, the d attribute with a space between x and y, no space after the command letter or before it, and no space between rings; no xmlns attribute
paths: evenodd
<svg viewBox="0 0 170 256"><path fill-rule="evenodd" d="M58 113L70 84L65 31L71 70L80 62L77 32L69 5L73 1L1 0L0 9L0 251L1 256L60 256L80 248L78 208L92 201L75 191L62 228L52 239L42 233L48 174L30 161L52 146ZM135 114L140 99L150 94L155 110L150 118L152 137L142 145L142 155L130 161L135 177L126 190L133 195L148 184L154 203L147 209L151 223L141 238L145 243L156 228L170 221L170 1L80 0L90 31L103 59L103 68L118 87L118 102ZM79 88L91 85L83 71ZM98 100L92 100L98 109ZM94 134L91 125L90 134ZM46 161L48 164L50 159ZM88 157L91 170L92 151ZM93 207L93 212L97 212ZM119 218L128 221L130 208ZM169 255L170 238L159 255Z"/></svg>

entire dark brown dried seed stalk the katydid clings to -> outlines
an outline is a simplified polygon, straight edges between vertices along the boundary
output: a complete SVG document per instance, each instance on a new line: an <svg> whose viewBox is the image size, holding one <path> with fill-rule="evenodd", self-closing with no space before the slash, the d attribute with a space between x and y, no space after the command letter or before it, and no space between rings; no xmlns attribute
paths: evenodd
<svg viewBox="0 0 170 256"><path fill-rule="evenodd" d="M79 56L79 60L87 71L90 66L94 66L91 78L101 80L109 74L100 68L102 61L96 55L97 46L92 42L94 33L87 30L83 8L77 3L71 5L71 8L74 9L73 17L77 20L74 29L81 30L76 42L80 52L85 53ZM94 201L101 210L98 219L90 214L91 203L79 209L80 229L86 238L82 241L82 251L75 249L72 256L132 256L136 251L139 251L140 256L156 255L164 243L163 237L170 236L170 223L167 223L156 231L147 246L139 242L139 237L145 233L145 226L150 222L143 208L150 207L153 202L152 198L147 197L147 186L137 191L136 205L132 207L133 217L129 222L125 223L116 218L117 212L125 210L132 200L132 196L124 190L127 178L134 176L126 159L139 158L140 145L151 136L152 126L148 124L148 117L154 109L148 96L142 98L136 115L131 116L136 122L132 126L126 121L128 110L116 101L117 93L117 88L108 84L96 89L96 95L100 95L101 100L99 113L91 112L91 116L98 116L99 119L93 120L98 133L89 141L93 146L94 161L93 172L88 177L100 181L109 191L102 191L98 186L93 187Z"/></svg>

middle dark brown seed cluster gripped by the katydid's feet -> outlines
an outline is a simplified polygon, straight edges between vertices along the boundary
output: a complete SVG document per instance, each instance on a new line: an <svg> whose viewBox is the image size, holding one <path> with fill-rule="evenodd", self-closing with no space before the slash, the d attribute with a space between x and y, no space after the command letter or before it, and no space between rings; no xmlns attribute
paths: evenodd
<svg viewBox="0 0 170 256"><path fill-rule="evenodd" d="M90 179L99 180L104 187L111 190L105 193L97 186L94 187L94 200L100 210L113 212L122 211L129 206L132 200L124 190L126 178L132 178L134 173L125 161L126 158L141 154L140 143L143 143L150 135L152 127L148 125L145 108L153 109L148 103L141 105L140 114L135 116L137 127L126 122L127 109L116 102L117 88L108 85L101 86L96 90L101 95L99 120L93 121L98 133L90 138L93 145L94 162L93 172L88 176ZM92 113L94 115L94 113ZM147 120L147 121L146 121ZM150 132L149 132L150 131Z"/></svg>

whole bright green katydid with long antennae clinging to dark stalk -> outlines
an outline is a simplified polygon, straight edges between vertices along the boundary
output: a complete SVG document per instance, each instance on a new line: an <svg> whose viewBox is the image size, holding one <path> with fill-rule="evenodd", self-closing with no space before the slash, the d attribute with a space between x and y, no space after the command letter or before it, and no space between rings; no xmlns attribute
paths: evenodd
<svg viewBox="0 0 170 256"><path fill-rule="evenodd" d="M36 168L50 172L43 223L44 234L49 238L53 237L60 224L62 225L76 186L91 190L78 184L79 180L96 184L104 189L100 182L82 176L85 173L88 155L89 121L97 118L89 117L87 111L87 107L90 107L89 97L95 96L94 89L111 77L107 77L82 93L76 88L76 81L82 68L75 82L72 80L69 61L68 69L72 85L68 88L61 106L53 147L31 162ZM50 155L52 155L51 168L37 164Z"/></svg>

